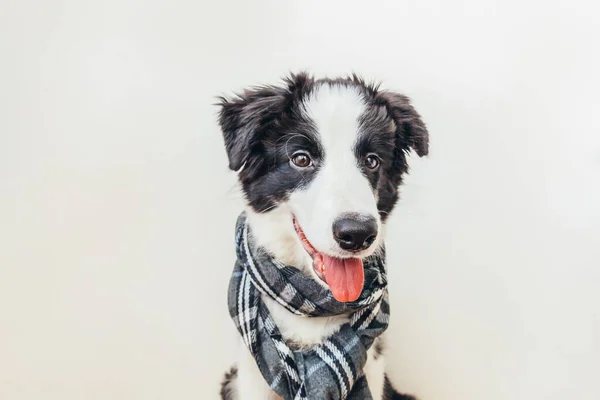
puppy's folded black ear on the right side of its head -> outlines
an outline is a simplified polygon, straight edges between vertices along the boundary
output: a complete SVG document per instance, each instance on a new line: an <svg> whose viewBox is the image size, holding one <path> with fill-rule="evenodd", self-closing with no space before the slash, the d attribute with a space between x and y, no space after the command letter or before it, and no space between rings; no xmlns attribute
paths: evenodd
<svg viewBox="0 0 600 400"><path fill-rule="evenodd" d="M393 92L379 92L377 99L386 106L396 123L402 147L412 148L419 157L426 156L429 153L429 133L421 116L410 104L410 99Z"/></svg>

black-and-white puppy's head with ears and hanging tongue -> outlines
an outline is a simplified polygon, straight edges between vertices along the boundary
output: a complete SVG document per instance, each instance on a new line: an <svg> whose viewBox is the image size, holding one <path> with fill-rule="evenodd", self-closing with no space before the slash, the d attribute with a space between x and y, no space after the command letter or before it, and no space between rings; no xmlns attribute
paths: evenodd
<svg viewBox="0 0 600 400"><path fill-rule="evenodd" d="M407 153L428 152L409 99L351 76L292 75L221 99L229 167L256 213L282 208L340 301L358 298L362 261L380 245Z"/></svg>

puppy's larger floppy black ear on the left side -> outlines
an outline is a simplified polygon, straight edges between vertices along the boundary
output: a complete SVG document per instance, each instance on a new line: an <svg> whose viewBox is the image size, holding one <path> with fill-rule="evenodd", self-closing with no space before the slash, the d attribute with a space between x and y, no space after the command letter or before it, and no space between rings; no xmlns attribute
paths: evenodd
<svg viewBox="0 0 600 400"><path fill-rule="evenodd" d="M234 98L220 98L219 125L223 131L229 168L238 171L253 151L259 150L265 134L301 97L312 82L305 73L284 79L285 86L259 86L245 90Z"/></svg>

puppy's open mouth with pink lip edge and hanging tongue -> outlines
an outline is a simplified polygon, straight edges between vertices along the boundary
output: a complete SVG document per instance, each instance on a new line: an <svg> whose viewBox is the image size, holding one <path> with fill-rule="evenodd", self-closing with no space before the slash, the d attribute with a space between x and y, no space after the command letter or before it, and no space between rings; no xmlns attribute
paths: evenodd
<svg viewBox="0 0 600 400"><path fill-rule="evenodd" d="M329 286L333 297L343 303L357 300L365 284L362 260L360 258L337 258L317 251L306 238L296 217L293 219L294 229L300 242L313 260L315 273Z"/></svg>

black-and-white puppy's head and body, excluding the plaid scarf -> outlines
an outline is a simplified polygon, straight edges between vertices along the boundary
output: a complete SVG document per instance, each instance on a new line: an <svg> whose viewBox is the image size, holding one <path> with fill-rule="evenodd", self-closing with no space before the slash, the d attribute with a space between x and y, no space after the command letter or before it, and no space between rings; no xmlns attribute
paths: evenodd
<svg viewBox="0 0 600 400"><path fill-rule="evenodd" d="M429 134L408 97L357 75L283 83L219 98L229 168L237 173L247 223L258 244L319 282L340 302L362 290L360 260L378 252L408 171L407 156L428 154ZM306 318L263 296L291 348L322 343L347 315ZM384 338L363 369L373 399L403 399L384 368ZM280 399L242 345L221 398Z"/></svg>

